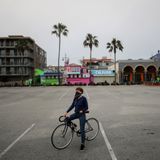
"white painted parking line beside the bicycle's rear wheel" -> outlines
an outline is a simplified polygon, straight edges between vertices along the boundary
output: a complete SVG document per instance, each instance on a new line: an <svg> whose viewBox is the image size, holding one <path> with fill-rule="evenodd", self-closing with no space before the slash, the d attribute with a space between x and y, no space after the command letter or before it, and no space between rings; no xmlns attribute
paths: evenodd
<svg viewBox="0 0 160 160"><path fill-rule="evenodd" d="M107 138L107 136L106 136L106 134L105 134L105 131L104 131L104 129L103 129L103 126L102 126L101 122L99 122L99 125L100 125L100 130L101 130L102 136L103 136L103 138L104 138L104 141L105 141L105 143L106 143L106 146L107 146L107 148L108 148L108 151L109 151L109 154L110 154L112 160L117 160L117 158L116 158L116 156L115 156L115 154L114 154L114 151L113 151L113 149L112 149L112 147L111 147L111 144L109 143L109 140L108 140L108 138Z"/></svg>

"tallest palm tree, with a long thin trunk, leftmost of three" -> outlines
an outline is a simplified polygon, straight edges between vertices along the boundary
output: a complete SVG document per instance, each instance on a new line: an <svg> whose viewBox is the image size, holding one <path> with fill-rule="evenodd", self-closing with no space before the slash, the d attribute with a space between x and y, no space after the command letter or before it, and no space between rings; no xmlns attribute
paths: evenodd
<svg viewBox="0 0 160 160"><path fill-rule="evenodd" d="M68 35L67 26L63 25L62 23L58 23L57 25L53 26L52 34L55 34L59 38L59 48L58 48L58 82L60 85L60 72L59 72L59 65L60 65L60 50L61 50L61 36Z"/></svg>

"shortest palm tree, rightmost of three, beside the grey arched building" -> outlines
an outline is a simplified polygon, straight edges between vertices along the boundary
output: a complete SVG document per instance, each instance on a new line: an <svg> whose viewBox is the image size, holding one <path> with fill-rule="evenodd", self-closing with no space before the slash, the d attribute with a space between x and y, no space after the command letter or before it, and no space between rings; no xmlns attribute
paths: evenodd
<svg viewBox="0 0 160 160"><path fill-rule="evenodd" d="M107 49L109 49L109 52L114 52L114 70L115 70L115 84L116 84L116 53L117 49L120 51L123 51L123 46L120 40L116 40L116 38L113 38L113 40L107 43Z"/></svg>

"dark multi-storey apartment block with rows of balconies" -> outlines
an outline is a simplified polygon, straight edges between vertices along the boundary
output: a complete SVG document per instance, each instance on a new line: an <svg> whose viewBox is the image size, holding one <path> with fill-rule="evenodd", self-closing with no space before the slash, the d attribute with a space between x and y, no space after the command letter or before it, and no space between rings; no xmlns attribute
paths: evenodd
<svg viewBox="0 0 160 160"><path fill-rule="evenodd" d="M26 41L23 51L17 48L18 41ZM23 47L23 46L22 46ZM46 52L30 37L0 37L0 84L22 85L33 78L35 68L46 67Z"/></svg>

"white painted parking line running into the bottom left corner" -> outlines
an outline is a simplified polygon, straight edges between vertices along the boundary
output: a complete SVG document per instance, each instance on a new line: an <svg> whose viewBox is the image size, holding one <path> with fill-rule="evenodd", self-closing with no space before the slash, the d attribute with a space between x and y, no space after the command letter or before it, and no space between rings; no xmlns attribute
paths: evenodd
<svg viewBox="0 0 160 160"><path fill-rule="evenodd" d="M28 129L26 129L15 141L13 141L2 153L0 153L0 158L5 155L25 134L27 134L33 127L35 123L33 123Z"/></svg>

